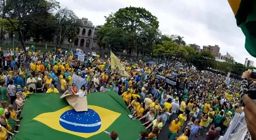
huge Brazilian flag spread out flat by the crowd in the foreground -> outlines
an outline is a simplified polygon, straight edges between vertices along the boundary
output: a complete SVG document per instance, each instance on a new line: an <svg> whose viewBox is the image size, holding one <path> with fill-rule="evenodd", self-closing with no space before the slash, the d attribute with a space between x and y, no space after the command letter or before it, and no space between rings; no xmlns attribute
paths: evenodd
<svg viewBox="0 0 256 140"><path fill-rule="evenodd" d="M131 120L114 91L87 95L88 111L76 112L60 94L32 94L22 109L13 140L111 140L102 131L117 131L120 140L136 140L145 128Z"/></svg>

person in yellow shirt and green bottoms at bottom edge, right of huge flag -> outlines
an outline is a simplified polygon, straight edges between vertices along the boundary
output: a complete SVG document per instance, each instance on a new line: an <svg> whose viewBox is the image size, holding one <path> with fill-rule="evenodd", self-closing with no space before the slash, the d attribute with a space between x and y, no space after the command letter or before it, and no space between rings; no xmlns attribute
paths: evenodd
<svg viewBox="0 0 256 140"><path fill-rule="evenodd" d="M168 138L170 140L173 140L176 137L176 134L180 131L180 129L181 129L181 124L179 122L179 118L176 118L171 122L169 126Z"/></svg>

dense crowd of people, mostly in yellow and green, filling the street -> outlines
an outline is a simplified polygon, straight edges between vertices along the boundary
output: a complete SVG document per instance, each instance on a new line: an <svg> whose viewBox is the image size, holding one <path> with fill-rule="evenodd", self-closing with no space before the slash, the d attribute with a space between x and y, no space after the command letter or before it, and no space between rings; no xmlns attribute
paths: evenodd
<svg viewBox="0 0 256 140"><path fill-rule="evenodd" d="M0 118L0 133L14 135L18 132L18 114L26 97L33 93L83 92L86 95L113 90L145 126L139 140L157 139L164 125L169 125L166 135L170 140L192 140L202 135L207 135L206 140L214 140L225 133L235 113L243 112L238 99L239 81L231 79L227 84L226 77L220 74L120 59L130 75L125 77L111 74L111 59L101 60L99 55L88 55L84 61L77 61L62 49L58 49L57 55L54 52L41 54L36 48L25 51L28 56L24 51L18 52L18 48L15 53L12 49L6 55L0 52L0 67L4 70L0 74L0 105L5 109ZM184 89L168 86L164 79L155 78L156 74L171 76L172 72L186 73L186 77L176 79L186 85ZM72 83L73 74L83 79L80 89ZM59 82L60 87L57 87ZM113 135L113 140L118 139L116 131L106 133Z"/></svg>

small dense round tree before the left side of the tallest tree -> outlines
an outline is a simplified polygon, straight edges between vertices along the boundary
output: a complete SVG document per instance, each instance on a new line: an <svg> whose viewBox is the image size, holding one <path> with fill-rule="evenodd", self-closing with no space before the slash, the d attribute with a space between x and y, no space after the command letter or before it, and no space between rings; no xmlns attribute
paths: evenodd
<svg viewBox="0 0 256 140"><path fill-rule="evenodd" d="M123 50L127 45L127 36L124 29L117 27L108 28L106 35L102 39L102 43L110 45L112 51Z"/></svg>

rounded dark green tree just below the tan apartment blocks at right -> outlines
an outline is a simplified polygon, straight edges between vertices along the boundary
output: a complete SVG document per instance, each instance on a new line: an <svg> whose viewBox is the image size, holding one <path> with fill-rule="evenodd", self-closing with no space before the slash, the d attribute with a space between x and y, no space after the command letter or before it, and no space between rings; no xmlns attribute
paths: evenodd
<svg viewBox="0 0 256 140"><path fill-rule="evenodd" d="M201 51L196 53L192 60L192 64L198 69L198 71L213 68L215 66L215 56L209 51Z"/></svg>

